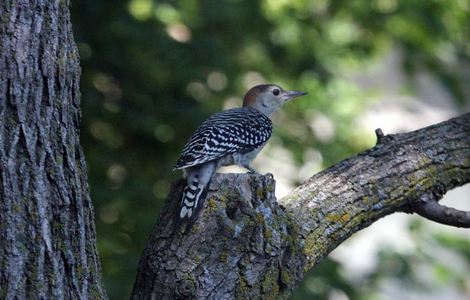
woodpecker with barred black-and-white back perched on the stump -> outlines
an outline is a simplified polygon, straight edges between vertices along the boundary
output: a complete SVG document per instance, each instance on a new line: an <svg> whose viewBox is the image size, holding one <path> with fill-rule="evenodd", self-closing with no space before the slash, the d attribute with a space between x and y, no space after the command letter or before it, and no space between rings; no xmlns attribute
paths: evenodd
<svg viewBox="0 0 470 300"><path fill-rule="evenodd" d="M257 85L246 93L242 107L211 115L199 126L174 167L183 169L186 177L178 223L190 219L192 226L219 167L236 164L256 173L250 163L271 137L271 115L289 100L305 94L284 91L275 84Z"/></svg>

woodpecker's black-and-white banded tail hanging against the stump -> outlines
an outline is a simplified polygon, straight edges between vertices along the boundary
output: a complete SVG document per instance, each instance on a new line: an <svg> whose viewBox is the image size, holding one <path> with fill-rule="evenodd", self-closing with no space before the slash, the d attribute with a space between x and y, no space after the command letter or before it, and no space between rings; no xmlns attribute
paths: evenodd
<svg viewBox="0 0 470 300"><path fill-rule="evenodd" d="M186 187L183 189L180 211L177 217L178 224L185 219L189 220L185 232L191 229L204 205L204 200L207 195L207 187L208 183L201 182L197 174L188 177Z"/></svg>

